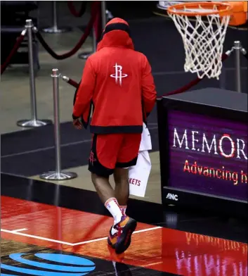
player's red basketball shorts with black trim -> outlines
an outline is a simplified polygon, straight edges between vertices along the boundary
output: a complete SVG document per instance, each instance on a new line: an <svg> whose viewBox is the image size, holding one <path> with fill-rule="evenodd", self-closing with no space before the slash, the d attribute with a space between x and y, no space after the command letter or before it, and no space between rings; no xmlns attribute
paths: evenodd
<svg viewBox="0 0 248 276"><path fill-rule="evenodd" d="M107 177L115 168L136 165L141 133L94 134L89 157L89 171Z"/></svg>

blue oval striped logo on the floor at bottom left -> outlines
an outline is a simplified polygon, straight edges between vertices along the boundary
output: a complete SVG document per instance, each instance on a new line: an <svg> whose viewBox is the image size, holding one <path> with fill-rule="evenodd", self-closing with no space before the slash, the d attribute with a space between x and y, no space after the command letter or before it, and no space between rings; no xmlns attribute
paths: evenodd
<svg viewBox="0 0 248 276"><path fill-rule="evenodd" d="M25 253L13 253L9 257L13 261L28 266L30 265L32 268L20 268L18 266L5 265L3 263L1 263L1 268L11 271L11 276L16 276L13 272L23 273L23 275L40 276L82 276L89 274L96 268L95 263L92 261L77 256L56 253L36 253L34 256L40 258L41 261L31 261L27 258L23 258L23 255L25 255ZM42 262L43 260L53 263L44 263ZM34 270L34 267L39 268L39 270ZM9 274L4 273L1 273L1 275L9 276Z"/></svg>

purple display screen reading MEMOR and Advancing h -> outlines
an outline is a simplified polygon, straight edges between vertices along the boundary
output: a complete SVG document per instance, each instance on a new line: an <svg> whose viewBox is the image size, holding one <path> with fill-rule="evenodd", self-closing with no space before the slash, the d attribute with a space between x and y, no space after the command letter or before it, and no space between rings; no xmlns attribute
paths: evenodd
<svg viewBox="0 0 248 276"><path fill-rule="evenodd" d="M247 201L247 125L181 111L168 125L169 187Z"/></svg>

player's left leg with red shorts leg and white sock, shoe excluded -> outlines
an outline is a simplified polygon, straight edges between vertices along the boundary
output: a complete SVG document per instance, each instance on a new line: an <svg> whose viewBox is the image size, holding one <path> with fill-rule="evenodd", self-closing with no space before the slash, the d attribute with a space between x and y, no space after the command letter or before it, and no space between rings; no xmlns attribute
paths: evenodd
<svg viewBox="0 0 248 276"><path fill-rule="evenodd" d="M119 139L118 134L95 134L89 158L92 182L101 201L112 214L114 224L122 220L122 211L115 199L115 191L110 185L109 176L114 172L117 152L121 144L122 140Z"/></svg>

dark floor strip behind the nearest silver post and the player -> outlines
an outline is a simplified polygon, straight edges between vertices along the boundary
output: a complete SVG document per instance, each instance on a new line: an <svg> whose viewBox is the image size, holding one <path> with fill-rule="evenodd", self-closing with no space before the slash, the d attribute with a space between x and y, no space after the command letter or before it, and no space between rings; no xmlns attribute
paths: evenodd
<svg viewBox="0 0 248 276"><path fill-rule="evenodd" d="M62 168L88 164L91 134L75 130L72 123L61 124ZM153 150L158 150L157 127L150 127ZM1 135L1 172L38 175L55 169L53 125Z"/></svg>

